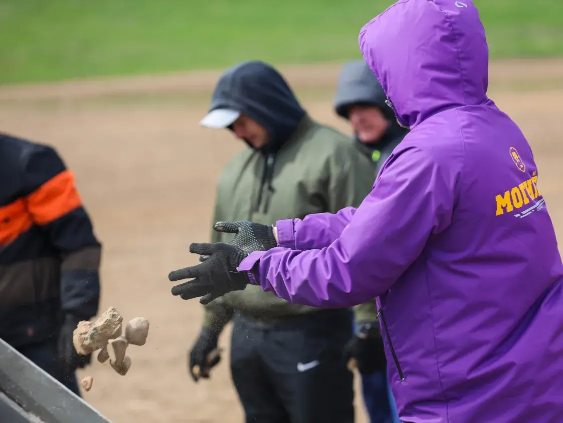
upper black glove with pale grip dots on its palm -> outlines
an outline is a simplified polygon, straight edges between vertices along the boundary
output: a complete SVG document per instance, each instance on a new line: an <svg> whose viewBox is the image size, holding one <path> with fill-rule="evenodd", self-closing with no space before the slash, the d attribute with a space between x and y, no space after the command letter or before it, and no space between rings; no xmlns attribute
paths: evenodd
<svg viewBox="0 0 563 423"><path fill-rule="evenodd" d="M267 251L278 246L274 236L274 228L260 223L248 221L239 222L217 222L213 226L217 232L235 233L233 240L229 244L235 245L245 253L252 251ZM202 255L200 262L207 260L209 256Z"/></svg>

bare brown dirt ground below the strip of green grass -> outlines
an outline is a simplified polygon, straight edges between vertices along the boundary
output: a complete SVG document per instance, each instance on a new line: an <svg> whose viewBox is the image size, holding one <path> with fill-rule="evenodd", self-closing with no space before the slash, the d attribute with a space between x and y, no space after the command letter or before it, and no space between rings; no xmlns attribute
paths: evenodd
<svg viewBox="0 0 563 423"><path fill-rule="evenodd" d="M339 65L287 69L310 114L349 132L332 111ZM207 241L215 183L243 144L205 130L217 73L0 87L0 129L60 150L104 245L101 311L150 319L147 343L131 346L127 376L97 361L84 398L114 423L242 422L228 357L212 380L194 384L186 351L202 318L196 300L170 294L168 272L196 263L193 241ZM491 65L489 96L521 125L539 166L539 186L563 236L563 61ZM230 330L221 338L228 351ZM356 391L359 422L366 422Z"/></svg>

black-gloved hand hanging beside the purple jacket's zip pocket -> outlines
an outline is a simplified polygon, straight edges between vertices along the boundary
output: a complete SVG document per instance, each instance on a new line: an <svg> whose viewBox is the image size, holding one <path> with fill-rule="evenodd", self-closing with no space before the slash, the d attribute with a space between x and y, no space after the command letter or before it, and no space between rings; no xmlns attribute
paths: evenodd
<svg viewBox="0 0 563 423"><path fill-rule="evenodd" d="M385 348L378 323L360 325L358 335L354 335L346 344L344 356L347 362L353 358L363 375L386 370Z"/></svg>

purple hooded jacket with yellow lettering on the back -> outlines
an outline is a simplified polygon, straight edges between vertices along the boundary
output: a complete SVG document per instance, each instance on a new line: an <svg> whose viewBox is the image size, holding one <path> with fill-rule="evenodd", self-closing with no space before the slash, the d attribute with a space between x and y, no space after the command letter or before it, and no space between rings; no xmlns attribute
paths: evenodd
<svg viewBox="0 0 563 423"><path fill-rule="evenodd" d="M359 43L410 133L358 209L277 222L239 271L293 303L377 296L405 422L563 421L563 266L475 6L401 0Z"/></svg>

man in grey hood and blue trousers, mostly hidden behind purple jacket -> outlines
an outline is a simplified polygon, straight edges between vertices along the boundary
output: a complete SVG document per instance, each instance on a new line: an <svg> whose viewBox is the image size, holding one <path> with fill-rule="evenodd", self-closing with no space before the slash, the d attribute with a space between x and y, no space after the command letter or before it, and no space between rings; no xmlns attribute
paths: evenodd
<svg viewBox="0 0 563 423"><path fill-rule="evenodd" d="M385 104L386 100L381 85L364 60L350 61L342 67L334 110L352 125L354 140L364 146L376 174L408 132L397 123L395 113ZM367 332L366 326L378 325L378 322L356 322L356 331L362 334ZM360 338L356 337L356 340ZM361 381L371 423L399 422L386 371L363 373Z"/></svg>

